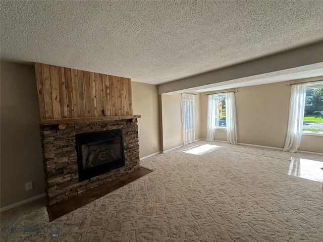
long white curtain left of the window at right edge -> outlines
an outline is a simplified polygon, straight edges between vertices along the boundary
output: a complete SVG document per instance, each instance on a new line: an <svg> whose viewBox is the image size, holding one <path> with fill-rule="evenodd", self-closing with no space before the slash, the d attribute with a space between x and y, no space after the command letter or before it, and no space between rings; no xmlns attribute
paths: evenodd
<svg viewBox="0 0 323 242"><path fill-rule="evenodd" d="M284 151L297 152L302 139L306 83L292 85L289 104L288 130Z"/></svg>

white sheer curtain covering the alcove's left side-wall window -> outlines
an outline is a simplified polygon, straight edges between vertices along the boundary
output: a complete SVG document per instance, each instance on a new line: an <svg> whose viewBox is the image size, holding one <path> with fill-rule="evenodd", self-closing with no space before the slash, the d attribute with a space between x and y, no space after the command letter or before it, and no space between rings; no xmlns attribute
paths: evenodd
<svg viewBox="0 0 323 242"><path fill-rule="evenodd" d="M182 132L184 145L195 140L194 95L182 93Z"/></svg>

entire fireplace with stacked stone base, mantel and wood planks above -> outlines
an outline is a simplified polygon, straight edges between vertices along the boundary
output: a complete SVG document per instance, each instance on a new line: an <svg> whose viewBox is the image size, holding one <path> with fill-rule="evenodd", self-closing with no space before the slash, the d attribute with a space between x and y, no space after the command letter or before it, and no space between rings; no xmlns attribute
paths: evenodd
<svg viewBox="0 0 323 242"><path fill-rule="evenodd" d="M129 78L35 63L48 205L139 167Z"/></svg>

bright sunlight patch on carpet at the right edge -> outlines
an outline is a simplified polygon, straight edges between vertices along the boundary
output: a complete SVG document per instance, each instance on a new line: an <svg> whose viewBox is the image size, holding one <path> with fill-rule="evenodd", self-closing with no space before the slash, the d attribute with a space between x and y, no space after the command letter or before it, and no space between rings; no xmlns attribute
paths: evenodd
<svg viewBox="0 0 323 242"><path fill-rule="evenodd" d="M309 180L323 182L322 161L292 158L289 166L289 175L294 175Z"/></svg>

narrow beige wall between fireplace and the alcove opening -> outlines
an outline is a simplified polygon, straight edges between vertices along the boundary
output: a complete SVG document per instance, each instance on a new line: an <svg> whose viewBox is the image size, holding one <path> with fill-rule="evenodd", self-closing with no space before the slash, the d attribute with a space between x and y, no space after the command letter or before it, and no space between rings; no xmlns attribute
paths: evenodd
<svg viewBox="0 0 323 242"><path fill-rule="evenodd" d="M132 82L132 106L138 118L140 158L161 150L159 135L158 86ZM154 147L153 147L154 146Z"/></svg>

